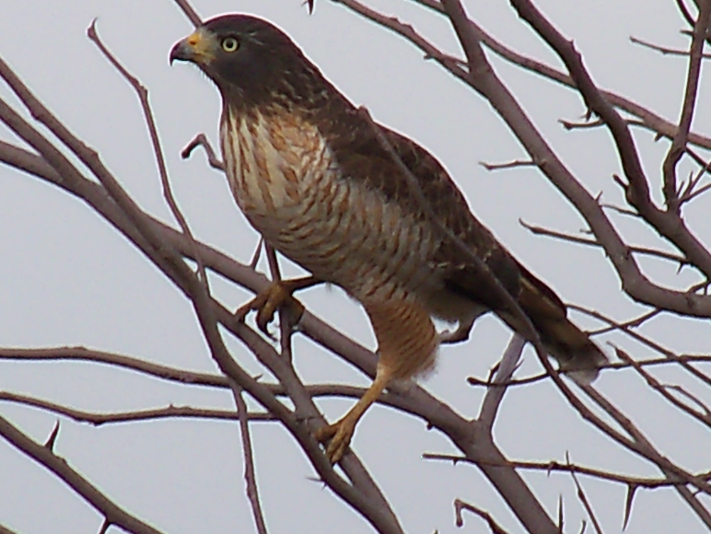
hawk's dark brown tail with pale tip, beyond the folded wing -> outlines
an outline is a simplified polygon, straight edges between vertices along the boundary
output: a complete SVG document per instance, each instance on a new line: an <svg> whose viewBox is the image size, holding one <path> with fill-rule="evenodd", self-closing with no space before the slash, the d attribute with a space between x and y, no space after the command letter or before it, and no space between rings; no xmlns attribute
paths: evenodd
<svg viewBox="0 0 711 534"><path fill-rule="evenodd" d="M597 378L599 367L609 361L607 356L567 319L565 305L552 290L533 274L527 271L521 274L518 303L533 322L548 354L558 361L560 370L575 381L591 383ZM516 332L525 331L512 314L499 315Z"/></svg>

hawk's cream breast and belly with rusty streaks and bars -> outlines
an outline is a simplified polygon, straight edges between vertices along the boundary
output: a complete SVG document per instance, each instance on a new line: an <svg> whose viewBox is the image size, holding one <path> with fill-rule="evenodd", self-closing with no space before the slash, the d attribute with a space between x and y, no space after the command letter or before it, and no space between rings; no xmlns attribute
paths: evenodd
<svg viewBox="0 0 711 534"><path fill-rule="evenodd" d="M435 242L378 191L341 175L318 129L290 114L236 116L220 138L237 205L266 241L362 303L432 283Z"/></svg>

